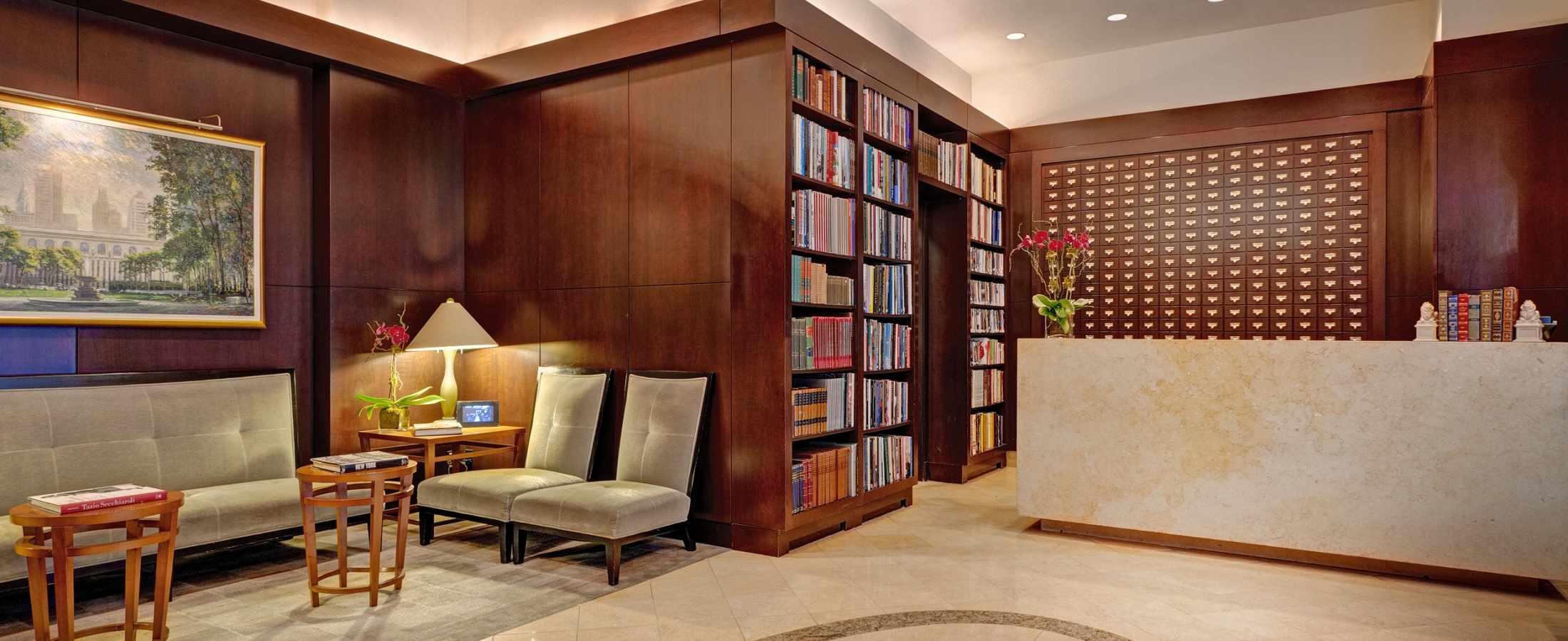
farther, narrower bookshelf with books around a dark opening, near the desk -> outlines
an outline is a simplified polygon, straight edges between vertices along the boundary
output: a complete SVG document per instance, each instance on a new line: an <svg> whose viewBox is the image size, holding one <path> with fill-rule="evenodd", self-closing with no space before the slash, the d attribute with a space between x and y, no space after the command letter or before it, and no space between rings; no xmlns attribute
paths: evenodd
<svg viewBox="0 0 1568 641"><path fill-rule="evenodd" d="M935 481L966 483L1007 465L1007 445L1013 442L1010 422L1004 420L1008 398L1004 384L1011 367L1005 354L1007 334L1007 244L1013 237L1002 201L1005 191L983 188L975 169L994 169L1005 182L1007 155L980 136L941 114L920 110L922 165L919 179L920 210L925 223L927 292L930 293L930 332L927 335L927 375L933 389L952 390L928 398L925 437L927 475ZM949 154L927 149L946 147ZM942 163L958 149L963 171ZM938 172L947 176L938 176ZM975 215L991 216L988 234L974 234ZM980 259L980 260L975 260ZM977 326L977 318L985 324ZM983 346L983 357L977 354ZM978 387L977 387L978 386ZM991 395L975 397L975 390ZM964 393L969 392L969 393ZM975 417L996 417L996 437L972 444Z"/></svg>

